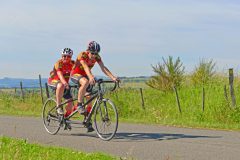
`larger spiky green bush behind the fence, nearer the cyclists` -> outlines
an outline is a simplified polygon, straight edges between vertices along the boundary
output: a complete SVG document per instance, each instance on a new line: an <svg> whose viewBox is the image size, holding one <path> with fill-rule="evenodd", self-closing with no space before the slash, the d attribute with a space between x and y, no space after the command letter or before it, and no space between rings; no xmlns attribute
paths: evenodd
<svg viewBox="0 0 240 160"><path fill-rule="evenodd" d="M184 79L184 69L180 58L176 61L173 60L172 56L167 59L162 58L163 63L158 63L156 66L152 66L155 75L152 76L146 84L152 88L170 91L175 85L176 87L181 86Z"/></svg>

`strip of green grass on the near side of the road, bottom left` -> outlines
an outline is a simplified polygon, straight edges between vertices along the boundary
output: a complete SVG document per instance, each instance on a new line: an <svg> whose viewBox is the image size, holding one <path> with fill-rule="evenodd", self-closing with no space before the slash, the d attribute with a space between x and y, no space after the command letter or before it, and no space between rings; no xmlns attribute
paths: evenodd
<svg viewBox="0 0 240 160"><path fill-rule="evenodd" d="M0 136L0 159L2 160L115 160L120 159L103 153L83 153L61 147L30 144L24 139Z"/></svg>

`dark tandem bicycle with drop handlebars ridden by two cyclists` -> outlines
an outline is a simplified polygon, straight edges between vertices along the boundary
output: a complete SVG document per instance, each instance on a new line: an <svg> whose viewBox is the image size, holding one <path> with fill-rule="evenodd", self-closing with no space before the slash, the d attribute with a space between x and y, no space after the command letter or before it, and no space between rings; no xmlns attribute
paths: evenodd
<svg viewBox="0 0 240 160"><path fill-rule="evenodd" d="M54 135L58 133L61 127L64 127L65 129L68 128L70 126L69 124L78 124L83 127L87 127L90 123L92 123L91 121L93 117L93 124L98 137L105 141L111 140L118 129L118 111L110 99L104 98L104 94L106 93L104 85L107 85L107 83L113 84L109 89L110 91L114 91L117 87L119 87L119 82L103 79L96 80L95 85L97 86L97 89L86 95L91 96L91 98L83 104L83 107L85 107L89 103L94 102L89 113L84 116L83 121L75 120L73 118L75 114L79 114L78 110L73 111L67 117L59 115L57 113L58 107L55 98L48 98L45 101L42 110L42 119L46 131L49 134ZM69 87L70 90L78 90L79 88L78 85L70 85ZM76 100L77 98L66 100L61 103L59 107L64 107L67 103L73 103ZM79 116L82 115L79 114Z"/></svg>

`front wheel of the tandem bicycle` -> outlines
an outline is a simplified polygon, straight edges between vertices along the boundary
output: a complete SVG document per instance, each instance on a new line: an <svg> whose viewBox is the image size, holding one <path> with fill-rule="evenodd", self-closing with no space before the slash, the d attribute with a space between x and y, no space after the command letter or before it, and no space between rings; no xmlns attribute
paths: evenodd
<svg viewBox="0 0 240 160"><path fill-rule="evenodd" d="M98 104L94 124L98 137L102 140L111 140L117 132L118 128L118 112L112 101L102 99Z"/></svg>

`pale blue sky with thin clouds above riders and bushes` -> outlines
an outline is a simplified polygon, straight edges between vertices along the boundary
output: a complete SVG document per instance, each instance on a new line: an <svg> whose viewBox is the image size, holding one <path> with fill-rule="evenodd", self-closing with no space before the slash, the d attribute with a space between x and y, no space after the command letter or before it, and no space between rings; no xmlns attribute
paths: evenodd
<svg viewBox="0 0 240 160"><path fill-rule="evenodd" d="M240 70L240 2L236 0L9 0L0 5L0 78L48 77L62 48L74 59L101 45L118 76L153 75L169 55L191 72L200 59ZM96 65L93 73L103 75Z"/></svg>

